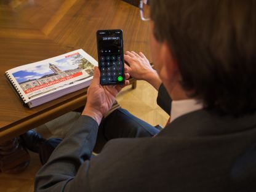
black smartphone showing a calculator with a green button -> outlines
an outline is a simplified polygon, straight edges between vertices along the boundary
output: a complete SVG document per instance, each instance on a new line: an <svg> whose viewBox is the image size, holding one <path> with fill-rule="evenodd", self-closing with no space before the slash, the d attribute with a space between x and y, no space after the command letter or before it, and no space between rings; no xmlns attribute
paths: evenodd
<svg viewBox="0 0 256 192"><path fill-rule="evenodd" d="M122 30L98 30L98 68L101 85L124 84L124 41Z"/></svg>

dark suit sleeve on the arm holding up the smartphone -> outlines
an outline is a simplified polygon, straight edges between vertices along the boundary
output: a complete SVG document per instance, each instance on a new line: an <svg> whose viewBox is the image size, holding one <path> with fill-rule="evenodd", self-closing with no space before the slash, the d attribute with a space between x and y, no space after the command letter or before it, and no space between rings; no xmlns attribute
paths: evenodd
<svg viewBox="0 0 256 192"><path fill-rule="evenodd" d="M55 148L47 163L36 174L35 191L73 191L76 176L87 184L87 167L98 132L97 122L89 116L81 116L68 130L66 137ZM79 168L84 167L82 172ZM86 171L84 171L86 170ZM87 185L89 190L89 183Z"/></svg>

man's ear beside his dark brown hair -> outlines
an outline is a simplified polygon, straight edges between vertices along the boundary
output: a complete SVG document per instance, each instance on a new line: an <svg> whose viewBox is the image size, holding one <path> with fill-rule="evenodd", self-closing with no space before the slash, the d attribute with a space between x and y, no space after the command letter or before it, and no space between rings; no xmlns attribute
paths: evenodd
<svg viewBox="0 0 256 192"><path fill-rule="evenodd" d="M172 52L167 44L167 42L162 42L161 50L159 51L159 58L161 58L162 68L159 69L159 76L162 79L166 79L169 82L175 82L178 79L178 66L174 57L172 56Z"/></svg>

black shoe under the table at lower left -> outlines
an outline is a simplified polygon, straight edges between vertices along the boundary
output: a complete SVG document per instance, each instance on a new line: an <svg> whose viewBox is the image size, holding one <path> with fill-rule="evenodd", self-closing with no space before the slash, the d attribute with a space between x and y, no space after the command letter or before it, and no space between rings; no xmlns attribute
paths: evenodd
<svg viewBox="0 0 256 192"><path fill-rule="evenodd" d="M23 145L34 153L39 153L39 147L46 141L40 134L34 130L29 130L25 134L20 135Z"/></svg>

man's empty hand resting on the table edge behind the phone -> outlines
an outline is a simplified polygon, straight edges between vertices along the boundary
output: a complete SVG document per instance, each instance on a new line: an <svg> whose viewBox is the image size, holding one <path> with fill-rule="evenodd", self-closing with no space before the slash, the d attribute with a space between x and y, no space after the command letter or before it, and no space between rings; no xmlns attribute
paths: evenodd
<svg viewBox="0 0 256 192"><path fill-rule="evenodd" d="M126 65L127 72L132 78L137 80L144 80L149 82L156 90L159 89L162 81L158 76L158 73L153 70L150 62L142 52L138 54L134 51L127 51L124 55L124 60L128 63Z"/></svg>

